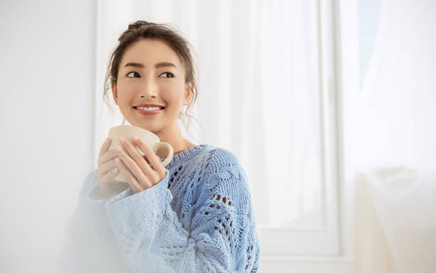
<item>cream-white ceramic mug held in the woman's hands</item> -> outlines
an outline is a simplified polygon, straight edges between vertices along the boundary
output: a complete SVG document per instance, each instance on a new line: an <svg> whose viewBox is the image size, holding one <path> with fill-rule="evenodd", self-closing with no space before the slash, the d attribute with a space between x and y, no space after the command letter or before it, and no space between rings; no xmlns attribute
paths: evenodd
<svg viewBox="0 0 436 273"><path fill-rule="evenodd" d="M172 156L174 154L174 151L172 149L172 146L168 144L167 142L160 142L159 137L157 135L153 134L150 131L147 131L146 129L142 129L140 127L132 126L132 125L120 125L110 128L109 130L109 137L112 139L112 142L110 143L109 150L115 149L115 147L119 146L121 149L123 149L123 146L120 145L119 139L120 137L124 137L127 141L132 143L132 137L137 137L138 139L141 139L145 144L150 146L150 148L156 153L156 151L162 147L165 147L168 149L168 155L165 158L164 161L162 161L163 166L167 166L167 164L170 163L172 160ZM144 153L137 147L135 144L133 146L137 149L137 152L144 156ZM125 149L123 149L125 151ZM112 186L115 190L123 191L127 188L130 188L129 183L127 182L127 179L123 176L123 173L118 173L117 176L115 176L110 181L110 186Z"/></svg>

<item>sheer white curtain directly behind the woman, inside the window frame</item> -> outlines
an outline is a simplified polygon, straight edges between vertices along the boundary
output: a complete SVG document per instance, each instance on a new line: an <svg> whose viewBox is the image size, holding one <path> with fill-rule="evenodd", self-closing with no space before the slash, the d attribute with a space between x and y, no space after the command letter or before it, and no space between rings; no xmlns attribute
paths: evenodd
<svg viewBox="0 0 436 273"><path fill-rule="evenodd" d="M99 63L137 19L173 23L192 43L201 127L185 136L238 156L259 225L321 224L317 1L99 3ZM105 116L101 95L95 152L122 120Z"/></svg>

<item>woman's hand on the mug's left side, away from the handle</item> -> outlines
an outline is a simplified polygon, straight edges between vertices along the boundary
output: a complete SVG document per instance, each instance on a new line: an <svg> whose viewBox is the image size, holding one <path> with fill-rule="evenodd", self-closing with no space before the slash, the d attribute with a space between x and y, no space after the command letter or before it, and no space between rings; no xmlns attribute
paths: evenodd
<svg viewBox="0 0 436 273"><path fill-rule="evenodd" d="M115 192L115 190L110 187L109 182L120 171L113 160L117 154L115 154L114 150L108 151L111 141L112 139L106 139L100 148L100 152L98 153L98 187L100 188L101 196L104 198L108 198L112 193Z"/></svg>

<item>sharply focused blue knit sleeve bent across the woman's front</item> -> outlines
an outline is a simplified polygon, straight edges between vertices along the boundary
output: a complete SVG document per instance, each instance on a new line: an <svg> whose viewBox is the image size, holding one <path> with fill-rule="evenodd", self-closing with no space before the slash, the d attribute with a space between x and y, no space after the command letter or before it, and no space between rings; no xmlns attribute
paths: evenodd
<svg viewBox="0 0 436 273"><path fill-rule="evenodd" d="M203 181L195 177L187 182L190 188L202 183L197 202L192 204L189 228L170 205L168 171L157 185L135 194L129 189L105 203L120 253L130 270L256 272L259 244L249 187L237 159L231 157L230 161L223 161L222 156L209 157Z"/></svg>

